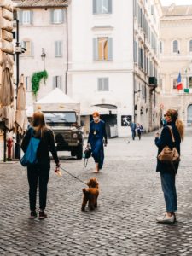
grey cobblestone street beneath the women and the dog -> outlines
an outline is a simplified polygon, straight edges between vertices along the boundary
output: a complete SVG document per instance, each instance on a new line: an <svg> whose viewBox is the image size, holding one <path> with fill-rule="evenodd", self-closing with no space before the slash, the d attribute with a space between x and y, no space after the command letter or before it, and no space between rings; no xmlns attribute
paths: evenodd
<svg viewBox="0 0 192 256"><path fill-rule="evenodd" d="M192 130L182 143L177 174L178 212L172 225L157 224L165 211L160 174L155 172L154 134L142 140L108 140L102 172L91 159L67 158L61 166L80 179L97 177L96 211L81 212L83 183L51 168L48 218L28 219L26 170L20 163L0 164L1 255L192 255Z"/></svg>

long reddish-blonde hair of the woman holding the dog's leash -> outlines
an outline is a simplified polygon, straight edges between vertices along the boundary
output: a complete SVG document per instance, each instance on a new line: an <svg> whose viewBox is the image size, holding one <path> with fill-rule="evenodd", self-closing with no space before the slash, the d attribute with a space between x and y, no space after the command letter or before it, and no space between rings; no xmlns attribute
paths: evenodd
<svg viewBox="0 0 192 256"><path fill-rule="evenodd" d="M32 127L35 130L36 136L44 137L44 131L47 130L47 126L44 120L44 113L37 111L32 116Z"/></svg>

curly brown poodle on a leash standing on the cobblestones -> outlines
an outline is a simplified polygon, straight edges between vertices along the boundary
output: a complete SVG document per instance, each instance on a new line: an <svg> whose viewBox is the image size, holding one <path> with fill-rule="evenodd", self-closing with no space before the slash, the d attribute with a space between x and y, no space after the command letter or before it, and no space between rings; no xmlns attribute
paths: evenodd
<svg viewBox="0 0 192 256"><path fill-rule="evenodd" d="M81 210L84 211L85 206L88 203L88 207L90 210L94 210L97 207L97 197L99 195L99 184L96 180L96 177L90 178L89 182L87 183L88 189L83 189L84 198Z"/></svg>

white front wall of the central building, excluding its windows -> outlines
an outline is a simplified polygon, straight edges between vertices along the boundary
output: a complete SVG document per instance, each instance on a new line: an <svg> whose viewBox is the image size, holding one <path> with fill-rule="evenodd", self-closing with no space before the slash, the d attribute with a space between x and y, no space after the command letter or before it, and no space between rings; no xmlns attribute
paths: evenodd
<svg viewBox="0 0 192 256"><path fill-rule="evenodd" d="M70 94L80 101L82 111L95 104L116 105L119 136L127 136L130 129L121 127L120 118L133 113L132 1L113 0L112 14L93 15L92 1L72 0L69 15ZM93 61L93 38L102 36L113 38L113 61ZM109 79L108 92L97 91L97 79L102 77Z"/></svg>

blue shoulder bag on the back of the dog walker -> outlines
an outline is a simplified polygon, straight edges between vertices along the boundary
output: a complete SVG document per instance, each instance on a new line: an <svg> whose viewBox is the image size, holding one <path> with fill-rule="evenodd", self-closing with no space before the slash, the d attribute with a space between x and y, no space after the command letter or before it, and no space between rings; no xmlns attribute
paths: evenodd
<svg viewBox="0 0 192 256"><path fill-rule="evenodd" d="M32 129L32 128L31 128ZM33 134L33 129L32 129ZM31 134L31 136L32 136ZM37 152L38 152L38 145L40 143L40 139L37 137L31 137L28 147L26 148L26 153L20 160L20 164L22 166L30 166L38 163L37 159Z"/></svg>

